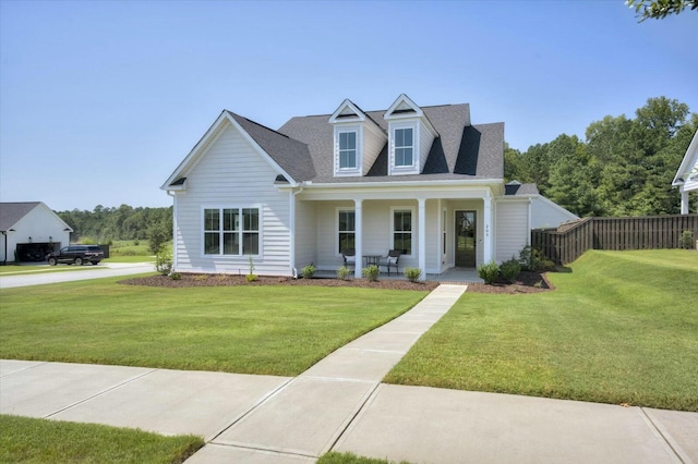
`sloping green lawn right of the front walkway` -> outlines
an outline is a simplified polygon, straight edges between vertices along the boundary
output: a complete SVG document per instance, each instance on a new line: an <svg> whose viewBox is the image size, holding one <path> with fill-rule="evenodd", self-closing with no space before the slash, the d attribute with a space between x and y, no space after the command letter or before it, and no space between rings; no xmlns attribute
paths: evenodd
<svg viewBox="0 0 698 464"><path fill-rule="evenodd" d="M587 252L554 292L466 293L385 381L698 411L698 254Z"/></svg>

